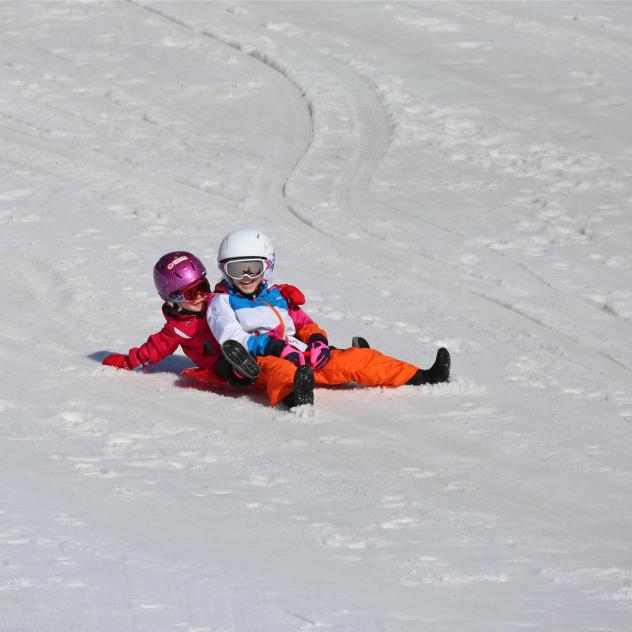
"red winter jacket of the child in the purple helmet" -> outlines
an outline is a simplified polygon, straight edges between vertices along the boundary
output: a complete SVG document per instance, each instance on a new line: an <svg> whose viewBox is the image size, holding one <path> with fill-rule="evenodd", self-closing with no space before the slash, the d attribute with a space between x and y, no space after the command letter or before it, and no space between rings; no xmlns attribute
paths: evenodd
<svg viewBox="0 0 632 632"><path fill-rule="evenodd" d="M209 297L210 299L210 297ZM200 314L181 313L165 303L162 313L167 321L140 347L128 351L132 369L138 371L164 360L180 346L198 367L213 369L222 352L206 322L206 310Z"/></svg>

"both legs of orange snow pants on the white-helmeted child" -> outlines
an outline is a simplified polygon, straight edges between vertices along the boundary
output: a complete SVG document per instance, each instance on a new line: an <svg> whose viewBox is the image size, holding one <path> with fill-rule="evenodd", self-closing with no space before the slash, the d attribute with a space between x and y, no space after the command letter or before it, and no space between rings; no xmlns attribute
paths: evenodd
<svg viewBox="0 0 632 632"><path fill-rule="evenodd" d="M265 389L271 406L276 406L294 389L296 367L275 356L258 356L261 374L255 386ZM322 369L314 369L314 381L321 386L356 382L363 386L402 386L417 367L384 355L375 349L332 349L331 359Z"/></svg>

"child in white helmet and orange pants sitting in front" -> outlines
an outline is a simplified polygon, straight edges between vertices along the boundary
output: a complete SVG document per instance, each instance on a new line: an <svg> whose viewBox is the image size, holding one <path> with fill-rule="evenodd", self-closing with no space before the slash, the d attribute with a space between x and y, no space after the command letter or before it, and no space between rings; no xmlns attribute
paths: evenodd
<svg viewBox="0 0 632 632"><path fill-rule="evenodd" d="M260 375L255 384L266 389L271 405L312 404L314 384L448 381L450 354L444 348L424 370L375 349L330 347L327 333L300 308L302 294L291 286L270 285L274 249L262 232L243 228L229 233L217 261L223 280L208 306L209 327L225 354L231 344L226 343L234 341L256 358Z"/></svg>

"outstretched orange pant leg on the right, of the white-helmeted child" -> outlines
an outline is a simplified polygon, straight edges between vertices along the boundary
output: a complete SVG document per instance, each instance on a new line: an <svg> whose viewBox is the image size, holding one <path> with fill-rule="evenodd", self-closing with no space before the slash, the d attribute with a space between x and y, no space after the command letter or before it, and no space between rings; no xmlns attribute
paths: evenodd
<svg viewBox="0 0 632 632"><path fill-rule="evenodd" d="M331 359L322 369L314 371L316 384L357 382L364 386L402 386L417 373L418 368L397 360L376 349L333 349Z"/></svg>

